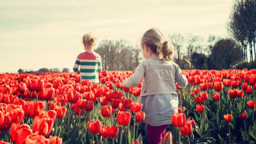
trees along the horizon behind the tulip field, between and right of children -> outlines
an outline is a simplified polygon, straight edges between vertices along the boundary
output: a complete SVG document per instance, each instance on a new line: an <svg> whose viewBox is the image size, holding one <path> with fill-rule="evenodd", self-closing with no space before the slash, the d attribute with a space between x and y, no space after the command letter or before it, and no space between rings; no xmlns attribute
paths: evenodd
<svg viewBox="0 0 256 144"><path fill-rule="evenodd" d="M174 61L183 69L238 68L243 62L254 61L256 1L236 0L227 26L228 38L216 35L207 38L199 35L169 35L169 40L175 46ZM104 40L95 51L102 56L103 69L133 70L142 59L139 57L139 47L131 46L124 40ZM184 66L184 63L188 66Z"/></svg>

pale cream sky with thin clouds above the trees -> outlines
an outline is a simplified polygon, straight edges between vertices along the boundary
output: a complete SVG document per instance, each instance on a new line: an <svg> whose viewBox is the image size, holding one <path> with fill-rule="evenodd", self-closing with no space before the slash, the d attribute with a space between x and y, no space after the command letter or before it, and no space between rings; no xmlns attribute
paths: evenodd
<svg viewBox="0 0 256 144"><path fill-rule="evenodd" d="M232 0L0 1L0 73L69 68L83 52L83 35L97 43L128 40L149 28L165 35L228 35Z"/></svg>

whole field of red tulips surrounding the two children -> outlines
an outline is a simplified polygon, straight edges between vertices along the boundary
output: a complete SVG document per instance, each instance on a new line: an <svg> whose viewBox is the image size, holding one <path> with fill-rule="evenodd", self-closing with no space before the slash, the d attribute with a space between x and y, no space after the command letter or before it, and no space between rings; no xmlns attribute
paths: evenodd
<svg viewBox="0 0 256 144"><path fill-rule="evenodd" d="M162 143L256 143L256 69L183 70L178 113ZM148 143L134 71L0 74L1 143Z"/></svg>

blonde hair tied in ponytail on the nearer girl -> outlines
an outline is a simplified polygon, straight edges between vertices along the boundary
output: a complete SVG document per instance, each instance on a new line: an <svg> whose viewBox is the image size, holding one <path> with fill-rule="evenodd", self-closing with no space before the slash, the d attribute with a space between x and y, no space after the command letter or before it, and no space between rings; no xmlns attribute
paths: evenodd
<svg viewBox="0 0 256 144"><path fill-rule="evenodd" d="M162 56L163 61L173 60L173 45L165 39L165 35L158 28L150 28L141 39L141 45L145 44L154 52Z"/></svg>

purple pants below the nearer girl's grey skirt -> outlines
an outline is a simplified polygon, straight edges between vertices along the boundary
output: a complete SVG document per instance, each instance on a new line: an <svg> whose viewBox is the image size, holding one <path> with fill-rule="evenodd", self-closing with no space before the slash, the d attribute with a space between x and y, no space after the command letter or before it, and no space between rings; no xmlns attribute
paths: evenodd
<svg viewBox="0 0 256 144"><path fill-rule="evenodd" d="M165 136L165 128L168 126L169 124L161 126L151 126L147 124L147 135L150 144L161 144L161 139Z"/></svg>

